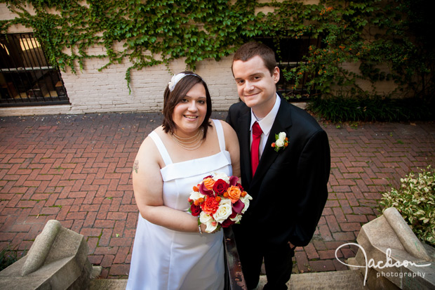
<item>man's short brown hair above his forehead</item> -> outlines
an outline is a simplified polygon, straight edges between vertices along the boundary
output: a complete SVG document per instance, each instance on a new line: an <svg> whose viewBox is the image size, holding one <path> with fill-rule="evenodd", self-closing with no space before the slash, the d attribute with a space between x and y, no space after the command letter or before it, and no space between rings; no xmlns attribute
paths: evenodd
<svg viewBox="0 0 435 290"><path fill-rule="evenodd" d="M272 51L272 48L269 48L269 46L262 44L261 42L250 41L240 46L236 53L234 53L233 63L236 60L250 60L255 55L262 58L263 62L265 62L265 67L267 67L267 70L269 70L270 75L272 76L276 67L275 53Z"/></svg>

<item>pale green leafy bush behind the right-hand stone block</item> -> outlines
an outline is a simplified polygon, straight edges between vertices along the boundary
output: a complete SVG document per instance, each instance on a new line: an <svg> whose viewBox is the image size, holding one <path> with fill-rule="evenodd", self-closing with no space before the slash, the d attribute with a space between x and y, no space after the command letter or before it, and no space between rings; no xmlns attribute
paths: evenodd
<svg viewBox="0 0 435 290"><path fill-rule="evenodd" d="M435 171L431 166L401 178L399 190L382 193L380 204L385 209L394 206L419 239L435 246Z"/></svg>

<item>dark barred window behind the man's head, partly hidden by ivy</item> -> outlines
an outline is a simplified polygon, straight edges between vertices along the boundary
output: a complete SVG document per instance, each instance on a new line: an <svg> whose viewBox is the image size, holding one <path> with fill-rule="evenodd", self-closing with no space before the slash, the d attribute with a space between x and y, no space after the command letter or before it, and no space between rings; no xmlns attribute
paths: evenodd
<svg viewBox="0 0 435 290"><path fill-rule="evenodd" d="M266 44L276 54L276 61L278 62L281 76L279 82L276 84L276 91L284 95L290 101L307 101L310 95L316 93L315 88L309 88L307 82L309 81L306 74L302 77L300 84L295 87L295 82L287 80L283 76L283 70L290 70L297 67L302 62L304 55L307 55L309 46L321 46L321 39L311 37L301 37L300 39L281 39L279 49L272 39L257 39L263 44Z"/></svg>

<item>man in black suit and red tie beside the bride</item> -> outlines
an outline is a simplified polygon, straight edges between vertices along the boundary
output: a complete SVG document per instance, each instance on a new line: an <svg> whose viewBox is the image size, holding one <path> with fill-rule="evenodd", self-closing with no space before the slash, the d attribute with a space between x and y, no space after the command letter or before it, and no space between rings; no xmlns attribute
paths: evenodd
<svg viewBox="0 0 435 290"><path fill-rule="evenodd" d="M233 226L243 275L255 289L264 258L264 289L287 289L295 247L312 239L328 198L328 136L311 115L277 95L271 48L243 44L232 72L243 102L229 108L227 123L239 137L241 182L253 197Z"/></svg>

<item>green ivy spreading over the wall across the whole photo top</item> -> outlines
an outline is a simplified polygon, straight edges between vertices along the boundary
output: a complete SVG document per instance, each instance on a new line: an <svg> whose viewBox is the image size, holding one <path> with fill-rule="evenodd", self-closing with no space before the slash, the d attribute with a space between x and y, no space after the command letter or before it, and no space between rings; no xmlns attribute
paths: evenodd
<svg viewBox="0 0 435 290"><path fill-rule="evenodd" d="M433 37L421 30L422 22L434 22L424 14L429 0L0 2L17 15L0 21L2 33L15 24L32 27L49 61L61 70L75 72L88 58L107 58L100 70L129 60L128 84L131 70L179 58L194 70L197 62L220 60L250 39L271 38L279 53L281 39L321 37L321 46L311 46L304 62L285 72L295 88L308 77L309 86L323 96L376 94L361 88L358 79L372 82L373 88L377 81L391 79L398 90L413 95L435 91ZM273 12L259 12L264 8ZM95 46L104 46L104 53L89 53ZM347 70L345 62L359 63L359 72ZM380 70L380 64L389 70Z"/></svg>

